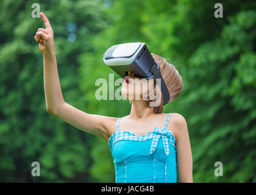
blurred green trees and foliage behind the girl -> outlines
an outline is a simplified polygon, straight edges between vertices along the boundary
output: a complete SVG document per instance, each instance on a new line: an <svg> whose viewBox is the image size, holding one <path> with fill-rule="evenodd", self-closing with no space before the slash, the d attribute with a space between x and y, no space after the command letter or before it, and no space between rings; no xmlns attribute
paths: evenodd
<svg viewBox="0 0 256 195"><path fill-rule="evenodd" d="M215 18L214 5L223 5ZM34 1L0 1L0 182L115 182L108 144L46 110L44 27ZM37 1L54 30L63 98L87 112L123 117L128 100L98 101L108 80L102 55L114 44L144 42L183 77L164 112L187 120L194 182L256 182L255 1ZM115 74L115 79L118 76ZM31 175L40 163L40 177ZM223 176L216 177L221 161Z"/></svg>

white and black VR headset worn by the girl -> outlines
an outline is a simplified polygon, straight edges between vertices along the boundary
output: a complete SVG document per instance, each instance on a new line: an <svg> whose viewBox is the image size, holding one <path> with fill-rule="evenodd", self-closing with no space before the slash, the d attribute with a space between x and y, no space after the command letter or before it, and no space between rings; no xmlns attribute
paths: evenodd
<svg viewBox="0 0 256 195"><path fill-rule="evenodd" d="M155 62L146 43L116 44L105 51L103 61L122 78L130 72L138 78L161 79L163 105L169 102L169 91L160 73L160 66Z"/></svg>

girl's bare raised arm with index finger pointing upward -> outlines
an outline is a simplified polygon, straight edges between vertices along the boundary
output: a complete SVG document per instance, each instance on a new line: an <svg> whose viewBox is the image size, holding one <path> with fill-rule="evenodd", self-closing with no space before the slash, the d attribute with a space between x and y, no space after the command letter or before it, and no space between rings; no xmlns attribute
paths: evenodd
<svg viewBox="0 0 256 195"><path fill-rule="evenodd" d="M85 113L64 101L54 52L54 32L44 13L41 12L40 16L46 28L38 29L34 38L43 54L44 94L47 111L77 129L108 141L110 135L115 131L116 118Z"/></svg>

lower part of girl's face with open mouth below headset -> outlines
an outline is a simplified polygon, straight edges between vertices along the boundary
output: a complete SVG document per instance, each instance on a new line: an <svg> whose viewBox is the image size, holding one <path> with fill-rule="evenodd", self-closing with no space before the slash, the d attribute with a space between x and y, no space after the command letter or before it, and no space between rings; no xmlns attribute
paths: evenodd
<svg viewBox="0 0 256 195"><path fill-rule="evenodd" d="M139 79L133 74L128 74L124 78L121 93L130 100L141 100L148 99L148 93L152 93L153 89L154 79Z"/></svg>

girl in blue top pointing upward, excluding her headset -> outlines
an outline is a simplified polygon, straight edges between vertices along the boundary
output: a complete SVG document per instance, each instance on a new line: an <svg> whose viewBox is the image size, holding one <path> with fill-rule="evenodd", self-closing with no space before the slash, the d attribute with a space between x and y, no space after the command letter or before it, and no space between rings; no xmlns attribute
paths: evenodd
<svg viewBox="0 0 256 195"><path fill-rule="evenodd" d="M115 165L115 182L193 182L192 154L187 122L178 113L163 113L162 103L149 107L145 99L130 99L130 115L114 118L82 112L67 104L62 96L54 52L54 32L40 13L46 29L38 29L35 41L43 53L44 93L49 113L77 129L108 142ZM170 94L170 101L182 91L182 77L162 57L152 54ZM122 95L140 94L135 77L124 79ZM129 86L129 87L128 87ZM132 89L132 90L130 90Z"/></svg>

